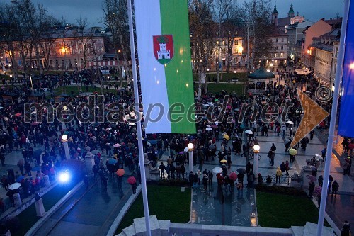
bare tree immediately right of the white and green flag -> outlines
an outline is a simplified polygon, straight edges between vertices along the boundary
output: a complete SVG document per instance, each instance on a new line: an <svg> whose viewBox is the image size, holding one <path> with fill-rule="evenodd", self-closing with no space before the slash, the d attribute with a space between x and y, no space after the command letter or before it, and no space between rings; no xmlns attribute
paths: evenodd
<svg viewBox="0 0 354 236"><path fill-rule="evenodd" d="M215 47L214 21L212 20L212 0L191 0L188 4L189 26L194 70L198 72L198 96L202 91L207 65Z"/></svg>

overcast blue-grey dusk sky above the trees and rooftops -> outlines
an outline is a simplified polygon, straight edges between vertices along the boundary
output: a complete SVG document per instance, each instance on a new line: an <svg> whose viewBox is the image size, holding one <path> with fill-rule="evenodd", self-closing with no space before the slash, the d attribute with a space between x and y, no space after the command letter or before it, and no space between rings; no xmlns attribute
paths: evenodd
<svg viewBox="0 0 354 236"><path fill-rule="evenodd" d="M10 2L10 0L0 0ZM87 18L90 26L99 25L98 18L103 16L101 0L32 0L45 6L48 13L56 18L67 20L68 23L76 23L76 19ZM149 0L144 0L149 1ZM236 1L236 0L235 0ZM245 0L238 0L239 3ZM272 9L275 0L272 0ZM290 9L291 0L277 0L279 17L286 17ZM343 0L293 0L295 15L305 15L310 21L318 21L320 18L335 18L337 13L343 16Z"/></svg>

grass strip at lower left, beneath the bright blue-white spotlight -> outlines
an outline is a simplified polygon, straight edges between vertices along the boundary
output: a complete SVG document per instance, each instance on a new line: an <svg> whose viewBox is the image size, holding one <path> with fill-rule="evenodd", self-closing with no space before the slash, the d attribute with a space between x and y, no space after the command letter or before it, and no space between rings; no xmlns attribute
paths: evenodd
<svg viewBox="0 0 354 236"><path fill-rule="evenodd" d="M44 196L42 196L43 199L43 206L45 208L45 211L50 210L55 204L67 194L73 186L62 186L61 184L58 184L55 186L52 190L49 192L45 193ZM36 216L35 213L35 203L33 203L31 206L23 210L19 215L17 215L13 220L11 220L13 225L8 225L8 227L11 230L11 235L13 236L22 236L25 235L25 233L30 230L30 228L39 220L40 218ZM12 227L12 228L11 228Z"/></svg>

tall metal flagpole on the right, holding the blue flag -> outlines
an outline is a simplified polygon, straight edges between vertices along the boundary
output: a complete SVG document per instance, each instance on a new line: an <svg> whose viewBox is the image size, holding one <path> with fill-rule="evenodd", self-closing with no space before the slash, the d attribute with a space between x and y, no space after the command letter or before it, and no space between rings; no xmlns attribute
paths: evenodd
<svg viewBox="0 0 354 236"><path fill-rule="evenodd" d="M333 140L334 140L334 129L336 128L336 117L338 108L338 96L340 91L341 76L343 71L343 58L344 58L344 40L346 35L347 23L348 23L348 13L349 13L350 0L344 0L343 6L343 19L341 27L341 38L339 41L338 57L337 57L337 68L336 68L336 80L334 82L334 94L333 103L331 109L331 123L329 124L329 139L327 142L327 152L326 152L326 163L324 166L324 184L321 192L321 206L319 208L319 221L317 225L317 236L322 235L322 229L324 225L324 213L326 210L326 200L327 191L329 187L329 168L331 166L331 157L333 152ZM331 86L331 84L329 85Z"/></svg>

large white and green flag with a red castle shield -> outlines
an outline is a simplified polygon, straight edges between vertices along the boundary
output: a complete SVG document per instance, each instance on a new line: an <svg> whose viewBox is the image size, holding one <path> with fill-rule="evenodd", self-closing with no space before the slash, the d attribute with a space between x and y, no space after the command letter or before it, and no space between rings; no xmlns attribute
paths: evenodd
<svg viewBox="0 0 354 236"><path fill-rule="evenodd" d="M195 133L187 0L135 0L146 133Z"/></svg>

